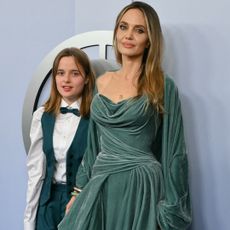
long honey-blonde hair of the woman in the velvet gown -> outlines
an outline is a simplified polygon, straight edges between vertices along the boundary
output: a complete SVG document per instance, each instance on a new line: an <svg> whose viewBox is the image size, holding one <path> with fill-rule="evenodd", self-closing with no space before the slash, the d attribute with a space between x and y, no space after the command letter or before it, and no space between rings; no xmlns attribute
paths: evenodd
<svg viewBox="0 0 230 230"><path fill-rule="evenodd" d="M118 14L113 35L113 45L117 62L122 64L122 56L117 48L116 32L123 15L130 9L139 9L145 18L149 39L149 46L145 49L141 75L138 79L138 95L146 94L150 103L163 112L164 75L161 67L163 52L163 35L159 17L156 11L144 2L132 2L125 6Z"/></svg>

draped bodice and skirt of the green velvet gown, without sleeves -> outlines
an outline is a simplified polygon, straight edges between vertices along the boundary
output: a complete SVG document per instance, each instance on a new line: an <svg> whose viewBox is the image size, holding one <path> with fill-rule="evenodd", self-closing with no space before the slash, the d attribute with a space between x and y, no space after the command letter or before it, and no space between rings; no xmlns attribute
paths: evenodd
<svg viewBox="0 0 230 230"><path fill-rule="evenodd" d="M118 103L96 94L91 105L100 151L90 178L59 230L157 230L163 176L152 145L160 117L146 96ZM92 141L92 140L89 140Z"/></svg>

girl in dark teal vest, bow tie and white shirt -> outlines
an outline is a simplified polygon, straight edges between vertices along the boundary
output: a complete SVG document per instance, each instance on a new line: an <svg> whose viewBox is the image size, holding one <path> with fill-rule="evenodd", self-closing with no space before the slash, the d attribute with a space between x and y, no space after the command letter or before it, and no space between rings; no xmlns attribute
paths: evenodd
<svg viewBox="0 0 230 230"><path fill-rule="evenodd" d="M55 230L65 214L85 152L94 81L80 49L56 56L50 97L31 123L25 230Z"/></svg>

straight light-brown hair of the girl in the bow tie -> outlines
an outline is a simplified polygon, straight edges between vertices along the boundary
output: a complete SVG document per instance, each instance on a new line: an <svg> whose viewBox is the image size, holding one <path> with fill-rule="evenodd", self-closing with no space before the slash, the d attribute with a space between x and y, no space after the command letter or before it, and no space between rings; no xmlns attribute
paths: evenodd
<svg viewBox="0 0 230 230"><path fill-rule="evenodd" d="M80 114L83 117L87 117L90 113L90 104L93 98L95 76L92 71L92 67L90 65L88 56L85 54L85 52L75 47L63 49L57 54L56 58L54 59L53 68L52 68L51 91L50 91L49 99L44 104L45 111L54 113L55 115L59 113L62 96L57 90L55 78L57 75L57 70L58 70L58 65L60 60L63 57L69 57L69 56L74 57L76 65L78 67L79 66L82 67L79 69L82 69L84 71L84 73L82 74L85 75L86 84L84 86L81 95L82 101L80 106Z"/></svg>

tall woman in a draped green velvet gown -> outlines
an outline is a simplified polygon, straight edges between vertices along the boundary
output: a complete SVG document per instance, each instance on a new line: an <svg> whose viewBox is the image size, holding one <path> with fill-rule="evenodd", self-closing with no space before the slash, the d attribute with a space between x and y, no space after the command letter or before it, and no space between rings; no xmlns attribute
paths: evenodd
<svg viewBox="0 0 230 230"><path fill-rule="evenodd" d="M119 13L114 48L121 69L97 80L89 145L59 230L189 226L180 101L161 68L162 40L151 6L133 2Z"/></svg>

